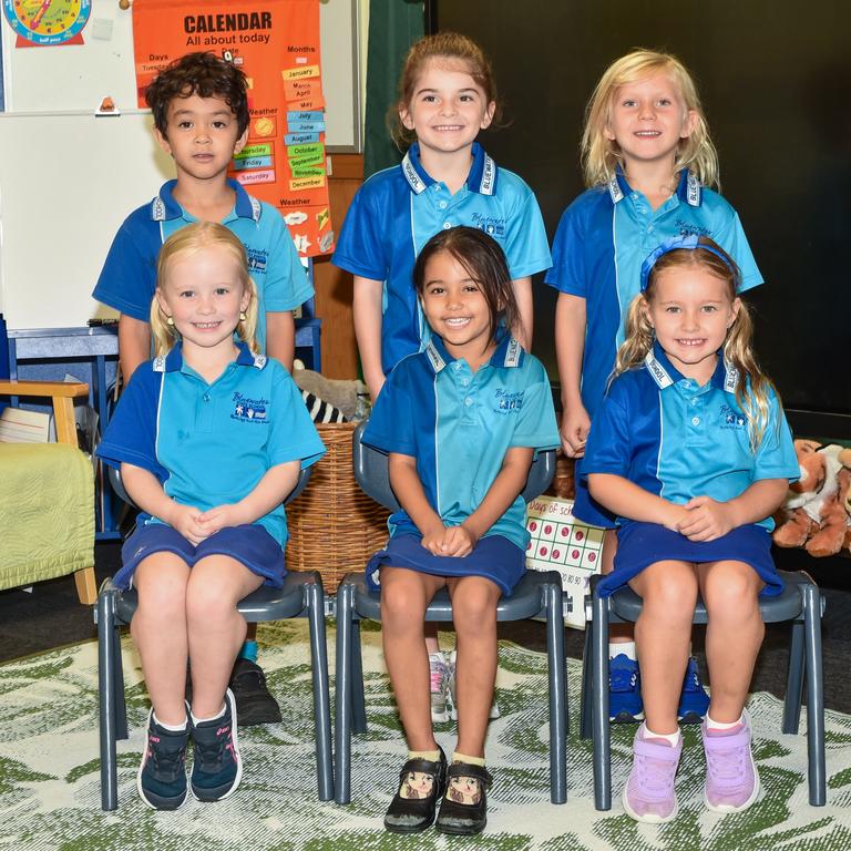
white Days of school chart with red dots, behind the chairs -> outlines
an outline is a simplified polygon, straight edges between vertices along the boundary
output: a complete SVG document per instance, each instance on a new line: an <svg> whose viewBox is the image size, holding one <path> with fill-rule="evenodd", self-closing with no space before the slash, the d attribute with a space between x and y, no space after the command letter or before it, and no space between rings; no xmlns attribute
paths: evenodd
<svg viewBox="0 0 851 851"><path fill-rule="evenodd" d="M573 502L555 496L539 496L530 502L526 529L532 536L526 547L526 567L562 574L562 587L572 601L572 611L565 607L565 623L583 628L588 577L599 571L603 530L576 520Z"/></svg>

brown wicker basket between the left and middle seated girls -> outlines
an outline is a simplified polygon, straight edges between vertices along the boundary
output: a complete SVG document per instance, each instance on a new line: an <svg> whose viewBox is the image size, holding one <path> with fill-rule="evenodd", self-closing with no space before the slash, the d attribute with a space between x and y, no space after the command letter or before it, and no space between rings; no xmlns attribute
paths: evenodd
<svg viewBox="0 0 851 851"><path fill-rule="evenodd" d="M387 543L389 512L358 488L351 469L356 423L316 423L325 455L310 481L287 505L287 568L319 571L327 594L340 580L362 571L372 553Z"/></svg>

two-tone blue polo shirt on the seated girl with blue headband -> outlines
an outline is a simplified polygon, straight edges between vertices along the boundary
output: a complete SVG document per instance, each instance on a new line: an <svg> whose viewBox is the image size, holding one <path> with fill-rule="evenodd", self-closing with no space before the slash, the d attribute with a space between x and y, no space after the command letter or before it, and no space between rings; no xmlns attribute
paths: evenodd
<svg viewBox="0 0 851 851"><path fill-rule="evenodd" d="M792 435L772 392L756 454L736 402L736 370L722 358L699 387L658 344L644 365L618 376L591 424L583 474L612 473L678 505L693 496L727 502L761 479L800 475ZM621 523L632 521L621 519ZM758 525L769 532L766 517Z"/></svg>

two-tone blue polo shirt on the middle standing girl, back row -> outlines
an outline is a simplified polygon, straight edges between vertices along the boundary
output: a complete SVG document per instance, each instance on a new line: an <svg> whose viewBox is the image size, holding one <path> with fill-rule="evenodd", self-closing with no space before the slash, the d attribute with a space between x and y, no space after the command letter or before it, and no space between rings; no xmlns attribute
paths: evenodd
<svg viewBox="0 0 851 851"><path fill-rule="evenodd" d="M431 330L413 287L417 255L434 234L479 227L505 252L513 280L550 268L550 245L532 189L499 168L479 143L466 183L452 195L411 145L400 165L372 175L355 195L334 253L341 269L385 284L381 367L385 373L420 351Z"/></svg>

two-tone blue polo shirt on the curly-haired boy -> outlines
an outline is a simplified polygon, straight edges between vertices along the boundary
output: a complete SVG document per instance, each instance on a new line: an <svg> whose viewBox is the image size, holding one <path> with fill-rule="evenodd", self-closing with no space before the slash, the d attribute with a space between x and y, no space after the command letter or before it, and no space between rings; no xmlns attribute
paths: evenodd
<svg viewBox="0 0 851 851"><path fill-rule="evenodd" d="M103 264L92 297L115 310L146 322L156 288L156 258L163 243L198 219L175 199L176 181L163 184L160 194L124 219ZM248 255L248 270L257 285L257 345L266 351L266 314L295 310L314 287L280 213L253 198L236 181L233 212L222 224L239 237Z"/></svg>

